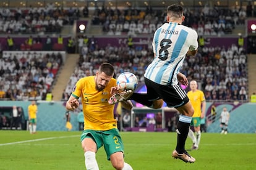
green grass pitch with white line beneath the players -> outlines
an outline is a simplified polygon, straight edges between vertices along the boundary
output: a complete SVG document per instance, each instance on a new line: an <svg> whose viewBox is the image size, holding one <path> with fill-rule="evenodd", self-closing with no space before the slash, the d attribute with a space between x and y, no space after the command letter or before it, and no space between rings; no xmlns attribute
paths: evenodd
<svg viewBox="0 0 256 170"><path fill-rule="evenodd" d="M85 169L81 132L0 131L1 170ZM174 132L121 132L125 161L134 170L255 169L255 134L202 133L199 150L190 155L195 163L171 157L176 147ZM186 148L192 145L187 139ZM104 148L96 154L100 169L113 169Z"/></svg>

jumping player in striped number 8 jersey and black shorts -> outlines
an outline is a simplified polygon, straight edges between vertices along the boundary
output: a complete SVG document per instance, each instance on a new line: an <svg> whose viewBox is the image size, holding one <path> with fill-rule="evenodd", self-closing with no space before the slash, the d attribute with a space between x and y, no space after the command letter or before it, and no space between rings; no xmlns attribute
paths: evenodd
<svg viewBox="0 0 256 170"><path fill-rule="evenodd" d="M153 37L154 59L144 75L147 94L134 93L129 99L151 108L161 108L163 101L168 107L176 108L181 116L177 124L177 145L172 156L194 163L195 158L185 150L194 108L178 83L188 86L186 76L179 70L186 55L197 54L198 35L195 30L182 25L184 18L182 6L174 4L168 7L167 22L155 31Z"/></svg>

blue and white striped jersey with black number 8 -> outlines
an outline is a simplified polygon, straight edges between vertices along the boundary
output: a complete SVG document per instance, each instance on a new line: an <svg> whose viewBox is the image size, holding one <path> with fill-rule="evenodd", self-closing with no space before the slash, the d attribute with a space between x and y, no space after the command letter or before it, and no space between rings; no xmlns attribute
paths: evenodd
<svg viewBox="0 0 256 170"><path fill-rule="evenodd" d="M158 84L177 84L177 73L187 51L198 48L197 32L178 23L164 23L155 31L152 46L155 59L148 65L145 78Z"/></svg>

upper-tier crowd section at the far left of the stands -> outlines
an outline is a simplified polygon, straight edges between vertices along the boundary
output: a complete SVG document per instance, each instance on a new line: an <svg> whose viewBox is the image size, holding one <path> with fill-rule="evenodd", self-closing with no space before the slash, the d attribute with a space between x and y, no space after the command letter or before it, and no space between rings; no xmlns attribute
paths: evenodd
<svg viewBox="0 0 256 170"><path fill-rule="evenodd" d="M80 17L78 8L45 7L0 8L0 33L60 33L63 25L72 25Z"/></svg>

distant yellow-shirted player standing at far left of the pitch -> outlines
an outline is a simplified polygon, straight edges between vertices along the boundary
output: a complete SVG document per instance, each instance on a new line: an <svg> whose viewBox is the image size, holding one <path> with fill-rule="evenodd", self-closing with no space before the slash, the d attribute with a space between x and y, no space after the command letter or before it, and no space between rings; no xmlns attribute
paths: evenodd
<svg viewBox="0 0 256 170"><path fill-rule="evenodd" d="M37 113L37 106L36 102L33 100L31 104L28 106L28 129L30 134L36 133L36 113Z"/></svg>

